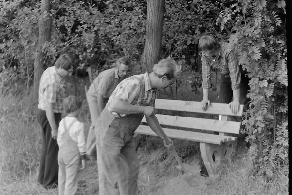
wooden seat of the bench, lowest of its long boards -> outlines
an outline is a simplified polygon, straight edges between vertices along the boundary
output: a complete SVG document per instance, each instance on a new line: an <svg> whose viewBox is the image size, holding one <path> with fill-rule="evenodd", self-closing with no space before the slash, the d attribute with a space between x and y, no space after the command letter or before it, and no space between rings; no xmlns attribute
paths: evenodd
<svg viewBox="0 0 292 195"><path fill-rule="evenodd" d="M235 141L237 137L219 136L215 134L206 134L201 132L191 132L177 129L162 128L165 134L170 138L197 141L212 144L221 144L226 141ZM135 131L137 134L157 136L157 134L147 125L140 125Z"/></svg>

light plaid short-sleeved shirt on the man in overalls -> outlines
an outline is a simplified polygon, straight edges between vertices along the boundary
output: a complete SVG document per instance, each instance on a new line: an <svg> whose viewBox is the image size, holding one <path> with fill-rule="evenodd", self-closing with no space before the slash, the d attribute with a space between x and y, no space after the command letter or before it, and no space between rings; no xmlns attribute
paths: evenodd
<svg viewBox="0 0 292 195"><path fill-rule="evenodd" d="M117 97L132 105L154 106L157 90L152 89L148 74L146 72L145 74L134 75L120 82L112 92L106 107L111 111L110 104ZM125 116L112 113L116 116Z"/></svg>

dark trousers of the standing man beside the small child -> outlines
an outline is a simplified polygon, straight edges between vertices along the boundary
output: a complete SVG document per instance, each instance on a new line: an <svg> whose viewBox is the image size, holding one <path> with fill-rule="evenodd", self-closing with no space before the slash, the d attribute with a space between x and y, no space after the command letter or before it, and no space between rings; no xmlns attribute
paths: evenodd
<svg viewBox="0 0 292 195"><path fill-rule="evenodd" d="M61 113L54 113L57 126L62 117ZM46 116L46 111L38 109L37 119L42 129L43 146L39 163L38 182L44 188L52 188L58 184L58 151L57 140L52 138L51 126Z"/></svg>

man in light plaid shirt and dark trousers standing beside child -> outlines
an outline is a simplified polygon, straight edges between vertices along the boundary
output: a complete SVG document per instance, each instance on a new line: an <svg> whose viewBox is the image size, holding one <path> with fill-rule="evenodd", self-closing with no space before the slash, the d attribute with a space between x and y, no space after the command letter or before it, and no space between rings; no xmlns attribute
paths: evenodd
<svg viewBox="0 0 292 195"><path fill-rule="evenodd" d="M55 66L43 72L39 82L37 119L42 128L43 147L38 182L46 189L58 186L59 147L56 138L66 97L62 78L72 74L73 65L73 59L63 54Z"/></svg>

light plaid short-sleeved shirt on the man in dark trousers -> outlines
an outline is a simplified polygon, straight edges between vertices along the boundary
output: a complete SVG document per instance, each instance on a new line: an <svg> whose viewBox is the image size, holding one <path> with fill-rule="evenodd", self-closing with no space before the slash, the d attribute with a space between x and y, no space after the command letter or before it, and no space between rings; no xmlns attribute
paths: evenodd
<svg viewBox="0 0 292 195"><path fill-rule="evenodd" d="M54 113L62 113L66 97L65 85L55 66L47 68L39 81L38 108L45 110L46 102L53 103Z"/></svg>

